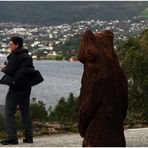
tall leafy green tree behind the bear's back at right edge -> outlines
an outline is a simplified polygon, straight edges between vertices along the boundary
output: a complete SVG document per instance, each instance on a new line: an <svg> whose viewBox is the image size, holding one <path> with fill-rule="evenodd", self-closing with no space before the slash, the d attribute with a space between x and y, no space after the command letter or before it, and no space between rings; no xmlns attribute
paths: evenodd
<svg viewBox="0 0 148 148"><path fill-rule="evenodd" d="M128 38L119 55L129 81L128 120L148 121L147 41L148 29L138 37Z"/></svg>

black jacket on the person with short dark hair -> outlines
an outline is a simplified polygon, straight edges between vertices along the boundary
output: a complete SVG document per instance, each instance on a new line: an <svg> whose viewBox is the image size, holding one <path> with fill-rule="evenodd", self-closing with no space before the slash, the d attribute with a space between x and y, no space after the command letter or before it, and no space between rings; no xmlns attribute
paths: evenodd
<svg viewBox="0 0 148 148"><path fill-rule="evenodd" d="M34 69L33 66L33 59L32 57L28 54L27 49L21 49L17 48L15 51L11 52L8 57L7 57L8 63L6 67L2 68L2 72L4 72L6 75L11 75L15 76L15 73L19 71L22 68L32 68ZM11 88L14 89L25 89L26 86L24 87L23 84L22 86L10 86Z"/></svg>

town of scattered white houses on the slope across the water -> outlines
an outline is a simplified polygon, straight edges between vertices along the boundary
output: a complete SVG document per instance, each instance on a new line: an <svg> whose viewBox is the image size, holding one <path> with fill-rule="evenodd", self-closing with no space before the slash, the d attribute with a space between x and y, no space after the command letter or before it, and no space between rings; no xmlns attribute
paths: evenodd
<svg viewBox="0 0 148 148"><path fill-rule="evenodd" d="M141 20L136 17L132 20L86 20L57 26L0 23L0 56L8 54L8 43L12 35L20 35L24 38L24 48L29 49L33 58L38 58L40 54L40 57L46 59L47 56L56 56L60 53L55 45L64 45L70 37L81 35L87 29L96 32L111 29L115 35L114 40L118 40L139 34L147 25L148 20ZM64 51L64 49L60 50L61 52ZM69 47L70 50L73 49ZM73 60L73 56L68 60Z"/></svg>

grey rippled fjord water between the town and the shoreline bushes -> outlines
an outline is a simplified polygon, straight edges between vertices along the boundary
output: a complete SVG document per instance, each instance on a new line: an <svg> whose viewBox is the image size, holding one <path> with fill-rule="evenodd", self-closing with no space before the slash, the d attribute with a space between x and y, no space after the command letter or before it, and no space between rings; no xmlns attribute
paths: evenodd
<svg viewBox="0 0 148 148"><path fill-rule="evenodd" d="M0 58L0 63L5 60ZM80 62L34 60L34 65L43 75L44 81L32 87L31 99L35 97L47 106L54 107L61 97L68 98L70 93L76 97L79 95L83 72ZM0 78L3 75L0 72ZM0 104L5 103L7 91L8 86L0 85Z"/></svg>

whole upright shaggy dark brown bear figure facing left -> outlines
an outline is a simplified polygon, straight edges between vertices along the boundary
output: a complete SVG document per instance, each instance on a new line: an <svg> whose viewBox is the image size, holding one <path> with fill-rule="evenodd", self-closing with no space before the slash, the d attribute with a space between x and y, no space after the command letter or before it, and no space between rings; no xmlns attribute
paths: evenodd
<svg viewBox="0 0 148 148"><path fill-rule="evenodd" d="M78 60L84 64L78 128L83 146L124 147L128 83L113 47L113 33L85 31Z"/></svg>

